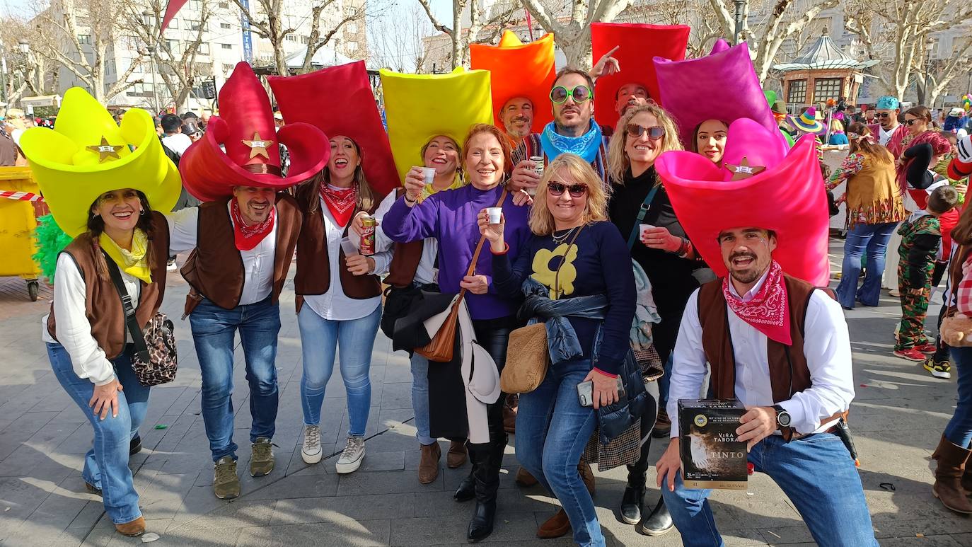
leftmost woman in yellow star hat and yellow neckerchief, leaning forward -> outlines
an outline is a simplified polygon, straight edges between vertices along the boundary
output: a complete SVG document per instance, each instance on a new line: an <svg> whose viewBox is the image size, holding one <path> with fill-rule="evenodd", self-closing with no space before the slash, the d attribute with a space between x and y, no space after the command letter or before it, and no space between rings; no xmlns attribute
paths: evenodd
<svg viewBox="0 0 972 547"><path fill-rule="evenodd" d="M102 497L116 530L141 535L128 457L141 449L149 388L132 370L131 333L110 272L121 274L144 328L165 292L169 229L160 211L175 205L179 173L148 112L132 109L116 125L80 87L64 93L57 128L27 129L20 147L54 220L74 238L57 256L42 338L54 376L94 428L85 486Z"/></svg>

